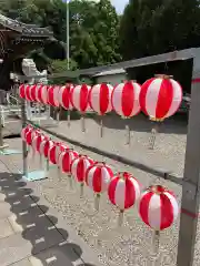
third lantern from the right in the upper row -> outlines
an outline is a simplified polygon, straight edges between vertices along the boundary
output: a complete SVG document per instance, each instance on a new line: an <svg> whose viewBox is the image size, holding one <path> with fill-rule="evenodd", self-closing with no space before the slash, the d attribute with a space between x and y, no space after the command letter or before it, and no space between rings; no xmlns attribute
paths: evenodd
<svg viewBox="0 0 200 266"><path fill-rule="evenodd" d="M99 115L103 115L112 111L111 94L113 86L110 84L97 84L92 86L89 94L89 104L91 109Z"/></svg>

